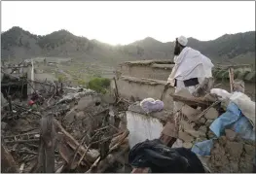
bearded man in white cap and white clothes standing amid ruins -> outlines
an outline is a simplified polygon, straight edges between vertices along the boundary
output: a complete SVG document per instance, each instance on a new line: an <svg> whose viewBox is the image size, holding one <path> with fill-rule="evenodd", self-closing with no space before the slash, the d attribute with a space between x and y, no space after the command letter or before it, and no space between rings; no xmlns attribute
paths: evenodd
<svg viewBox="0 0 256 174"><path fill-rule="evenodd" d="M212 77L211 60L190 47L187 47L188 40L184 36L176 38L174 48L174 63L171 74L167 79L165 87L175 87L175 93L187 88L191 94L203 82L205 78ZM174 109L177 108L174 103Z"/></svg>

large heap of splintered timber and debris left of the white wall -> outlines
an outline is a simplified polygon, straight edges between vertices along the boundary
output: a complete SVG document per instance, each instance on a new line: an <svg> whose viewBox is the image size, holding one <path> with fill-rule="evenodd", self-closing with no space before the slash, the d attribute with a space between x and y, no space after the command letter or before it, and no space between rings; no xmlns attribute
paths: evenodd
<svg viewBox="0 0 256 174"><path fill-rule="evenodd" d="M29 102L2 104L1 171L130 172L128 102L86 88L53 88L35 90Z"/></svg>

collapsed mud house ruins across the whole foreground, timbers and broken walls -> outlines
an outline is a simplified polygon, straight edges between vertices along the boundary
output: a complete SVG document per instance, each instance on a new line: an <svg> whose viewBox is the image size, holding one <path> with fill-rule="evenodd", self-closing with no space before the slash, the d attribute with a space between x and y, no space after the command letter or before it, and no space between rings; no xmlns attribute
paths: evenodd
<svg viewBox="0 0 256 174"><path fill-rule="evenodd" d="M164 110L147 113L140 101L147 97L160 98L165 86L164 79L154 79L152 75L161 74L164 69L168 76L173 64L169 61L130 63L152 69L148 74L134 74L136 69L130 74L120 71L112 81L109 94L47 82L38 86L41 90L34 90L42 99L35 101L37 107L27 105L27 100L9 102L7 106L13 107L1 110L3 116L13 116L4 117L1 122L5 152L1 156L6 164L2 172L129 173L132 167L128 151L139 142L156 138L173 148L192 148L198 142L215 138L212 154L201 157L206 171L251 172L255 144L241 141L234 130L225 130L231 133L220 138L209 128L225 112L218 99L205 93L194 97L186 91L173 95L174 88L169 87L163 100ZM172 112L173 101L184 106L181 111ZM19 118L12 119L16 115ZM135 168L133 172L149 170Z"/></svg>

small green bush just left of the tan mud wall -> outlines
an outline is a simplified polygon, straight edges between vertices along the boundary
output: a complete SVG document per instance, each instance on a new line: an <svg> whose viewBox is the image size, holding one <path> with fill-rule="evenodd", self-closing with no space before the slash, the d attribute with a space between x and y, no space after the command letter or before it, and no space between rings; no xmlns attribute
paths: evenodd
<svg viewBox="0 0 256 174"><path fill-rule="evenodd" d="M88 87L100 93L106 93L110 87L110 79L93 78L88 84Z"/></svg>

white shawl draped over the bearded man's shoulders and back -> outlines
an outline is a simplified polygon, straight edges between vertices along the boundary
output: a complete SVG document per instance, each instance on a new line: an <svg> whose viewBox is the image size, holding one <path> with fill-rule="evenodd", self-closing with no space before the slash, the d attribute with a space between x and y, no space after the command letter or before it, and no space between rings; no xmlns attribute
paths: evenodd
<svg viewBox="0 0 256 174"><path fill-rule="evenodd" d="M212 77L211 60L192 48L186 47L180 54L174 57L175 66L168 77L167 82L173 84L174 79L185 81L192 78Z"/></svg>

